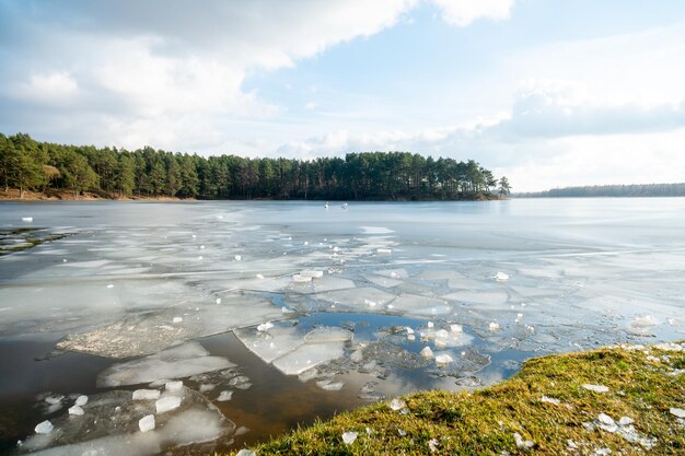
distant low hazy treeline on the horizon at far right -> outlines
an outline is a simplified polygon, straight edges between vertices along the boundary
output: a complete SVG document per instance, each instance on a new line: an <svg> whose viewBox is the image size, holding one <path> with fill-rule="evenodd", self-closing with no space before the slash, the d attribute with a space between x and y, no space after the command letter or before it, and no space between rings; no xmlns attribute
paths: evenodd
<svg viewBox="0 0 685 456"><path fill-rule="evenodd" d="M685 197L683 184L593 185L553 188L547 191L515 194L516 198L590 198L590 197Z"/></svg>

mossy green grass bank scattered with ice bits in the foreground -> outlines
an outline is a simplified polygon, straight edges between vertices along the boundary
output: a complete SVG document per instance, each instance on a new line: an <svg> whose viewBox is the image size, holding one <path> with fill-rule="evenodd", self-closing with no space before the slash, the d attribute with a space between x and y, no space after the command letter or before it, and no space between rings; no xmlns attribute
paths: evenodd
<svg viewBox="0 0 685 456"><path fill-rule="evenodd" d="M685 419L678 418L685 342L538 358L489 388L400 399L253 449L259 456L685 455ZM353 441L345 443L344 433Z"/></svg>

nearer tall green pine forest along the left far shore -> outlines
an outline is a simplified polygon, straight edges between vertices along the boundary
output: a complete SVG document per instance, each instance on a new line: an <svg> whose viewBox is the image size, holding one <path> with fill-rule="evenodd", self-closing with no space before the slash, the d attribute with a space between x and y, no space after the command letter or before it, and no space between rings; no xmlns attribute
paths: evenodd
<svg viewBox="0 0 685 456"><path fill-rule="evenodd" d="M0 133L0 184L24 191L91 191L106 197L202 199L474 199L508 195L506 177L473 160L408 152L349 153L345 159L201 157L152 148L127 151L38 142Z"/></svg>

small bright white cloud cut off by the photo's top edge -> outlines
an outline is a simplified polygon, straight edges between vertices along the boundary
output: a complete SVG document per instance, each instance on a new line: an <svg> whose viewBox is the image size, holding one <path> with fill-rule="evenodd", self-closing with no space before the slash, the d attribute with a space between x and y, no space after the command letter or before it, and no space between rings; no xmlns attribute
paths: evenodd
<svg viewBox="0 0 685 456"><path fill-rule="evenodd" d="M477 19L501 21L509 17L514 0L430 0L442 10L449 24L466 26Z"/></svg>

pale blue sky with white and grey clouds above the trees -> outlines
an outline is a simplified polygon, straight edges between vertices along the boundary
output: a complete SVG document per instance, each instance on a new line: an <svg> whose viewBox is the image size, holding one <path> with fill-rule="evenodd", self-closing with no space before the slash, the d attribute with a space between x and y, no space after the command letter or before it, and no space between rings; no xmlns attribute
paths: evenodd
<svg viewBox="0 0 685 456"><path fill-rule="evenodd" d="M682 0L0 0L0 132L685 182Z"/></svg>

